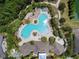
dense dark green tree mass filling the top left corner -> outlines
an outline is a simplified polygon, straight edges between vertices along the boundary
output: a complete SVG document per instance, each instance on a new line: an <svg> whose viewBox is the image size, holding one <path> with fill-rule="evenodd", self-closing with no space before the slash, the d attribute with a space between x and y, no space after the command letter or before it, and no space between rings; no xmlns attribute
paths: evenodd
<svg viewBox="0 0 79 59"><path fill-rule="evenodd" d="M0 0L4 1L4 0ZM0 26L9 24L18 18L19 12L30 4L30 0L5 0L3 5L0 5Z"/></svg>

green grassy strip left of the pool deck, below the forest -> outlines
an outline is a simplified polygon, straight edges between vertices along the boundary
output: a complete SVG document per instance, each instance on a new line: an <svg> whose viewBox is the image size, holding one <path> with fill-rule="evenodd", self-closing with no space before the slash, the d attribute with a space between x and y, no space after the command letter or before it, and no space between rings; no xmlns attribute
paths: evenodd
<svg viewBox="0 0 79 59"><path fill-rule="evenodd" d="M18 50L18 43L20 40L15 36L15 32L18 30L18 27L20 26L20 22L21 21L19 19L16 19L8 25L7 28L8 54L10 54L10 50L13 48Z"/></svg>

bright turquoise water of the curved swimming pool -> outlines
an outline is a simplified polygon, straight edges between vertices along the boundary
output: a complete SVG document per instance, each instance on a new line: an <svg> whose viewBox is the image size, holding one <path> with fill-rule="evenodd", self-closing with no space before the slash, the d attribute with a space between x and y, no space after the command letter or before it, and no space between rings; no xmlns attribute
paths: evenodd
<svg viewBox="0 0 79 59"><path fill-rule="evenodd" d="M48 18L48 15L45 13L40 13L38 17L38 24L26 24L26 26L21 31L21 36L23 38L28 38L31 35L31 32L33 30L36 30L38 32L45 32L47 31L48 26L44 23L44 21Z"/></svg>

